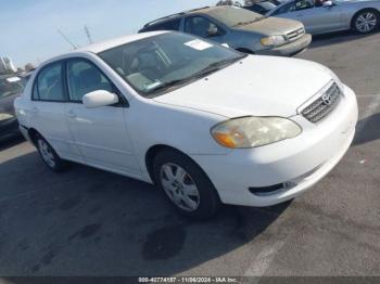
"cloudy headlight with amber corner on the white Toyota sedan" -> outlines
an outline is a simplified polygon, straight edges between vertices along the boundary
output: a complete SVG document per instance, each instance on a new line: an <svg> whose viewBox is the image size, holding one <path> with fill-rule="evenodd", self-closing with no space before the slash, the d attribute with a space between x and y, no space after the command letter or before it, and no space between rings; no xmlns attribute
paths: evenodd
<svg viewBox="0 0 380 284"><path fill-rule="evenodd" d="M230 149L258 147L295 138L302 128L282 117L242 117L230 119L212 128L213 138Z"/></svg>

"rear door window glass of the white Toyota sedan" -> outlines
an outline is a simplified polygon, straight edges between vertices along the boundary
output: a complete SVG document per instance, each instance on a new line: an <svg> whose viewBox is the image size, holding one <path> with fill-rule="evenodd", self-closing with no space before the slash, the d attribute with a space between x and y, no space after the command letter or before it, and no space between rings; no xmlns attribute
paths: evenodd
<svg viewBox="0 0 380 284"><path fill-rule="evenodd" d="M45 67L36 79L33 99L39 101L63 102L63 65L61 62Z"/></svg>

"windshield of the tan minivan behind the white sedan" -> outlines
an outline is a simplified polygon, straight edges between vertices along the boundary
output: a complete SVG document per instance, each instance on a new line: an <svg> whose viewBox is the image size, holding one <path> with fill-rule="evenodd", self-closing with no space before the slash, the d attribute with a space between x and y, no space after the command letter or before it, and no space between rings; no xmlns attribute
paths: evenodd
<svg viewBox="0 0 380 284"><path fill-rule="evenodd" d="M207 11L207 14L229 27L236 27L242 23L254 23L263 18L261 14L237 7L215 8Z"/></svg>

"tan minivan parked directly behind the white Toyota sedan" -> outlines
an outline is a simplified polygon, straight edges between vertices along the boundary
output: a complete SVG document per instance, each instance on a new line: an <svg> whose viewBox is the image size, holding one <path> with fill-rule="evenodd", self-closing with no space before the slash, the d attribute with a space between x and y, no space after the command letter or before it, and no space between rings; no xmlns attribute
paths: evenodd
<svg viewBox="0 0 380 284"><path fill-rule="evenodd" d="M302 23L264 17L237 7L202 8L147 24L139 33L179 30L245 53L291 56L305 50L312 36Z"/></svg>

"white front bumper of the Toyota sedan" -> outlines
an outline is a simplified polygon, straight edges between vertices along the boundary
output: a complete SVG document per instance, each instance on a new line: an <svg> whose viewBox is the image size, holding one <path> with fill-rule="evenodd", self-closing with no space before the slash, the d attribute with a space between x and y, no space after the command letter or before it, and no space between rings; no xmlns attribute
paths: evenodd
<svg viewBox="0 0 380 284"><path fill-rule="evenodd" d="M297 138L192 158L208 175L225 204L263 207L292 199L328 175L353 141L358 117L356 95L349 87L343 93L339 106L317 125L301 115L292 117L304 128ZM283 188L263 195L249 190L274 184Z"/></svg>

